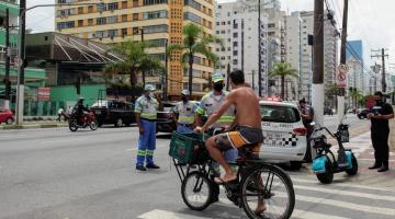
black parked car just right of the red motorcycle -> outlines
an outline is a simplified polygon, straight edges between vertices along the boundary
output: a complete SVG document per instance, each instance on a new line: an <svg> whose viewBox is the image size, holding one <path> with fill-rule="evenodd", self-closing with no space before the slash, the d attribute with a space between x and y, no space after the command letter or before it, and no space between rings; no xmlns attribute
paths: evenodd
<svg viewBox="0 0 395 219"><path fill-rule="evenodd" d="M121 127L136 123L133 103L115 100L98 101L91 106L91 110L94 111L99 127L106 124Z"/></svg>

